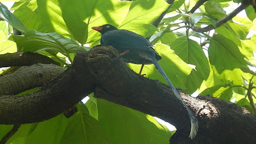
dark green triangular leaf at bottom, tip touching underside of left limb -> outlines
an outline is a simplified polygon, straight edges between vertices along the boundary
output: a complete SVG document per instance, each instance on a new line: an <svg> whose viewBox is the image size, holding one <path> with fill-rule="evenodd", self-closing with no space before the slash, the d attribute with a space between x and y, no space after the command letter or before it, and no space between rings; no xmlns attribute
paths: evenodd
<svg viewBox="0 0 256 144"><path fill-rule="evenodd" d="M83 102L79 102L76 106L78 111L71 117L72 120L68 123L60 143L110 144L111 140L108 135L103 131L99 122L90 116Z"/></svg>

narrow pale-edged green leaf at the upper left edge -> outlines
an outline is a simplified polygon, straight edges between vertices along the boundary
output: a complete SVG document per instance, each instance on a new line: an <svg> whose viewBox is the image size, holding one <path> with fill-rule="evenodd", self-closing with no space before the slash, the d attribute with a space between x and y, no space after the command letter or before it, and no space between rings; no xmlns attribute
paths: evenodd
<svg viewBox="0 0 256 144"><path fill-rule="evenodd" d="M0 3L0 18L6 20L14 28L18 29L21 33L28 31L25 26L20 22L19 19L8 9L4 8L5 6Z"/></svg>

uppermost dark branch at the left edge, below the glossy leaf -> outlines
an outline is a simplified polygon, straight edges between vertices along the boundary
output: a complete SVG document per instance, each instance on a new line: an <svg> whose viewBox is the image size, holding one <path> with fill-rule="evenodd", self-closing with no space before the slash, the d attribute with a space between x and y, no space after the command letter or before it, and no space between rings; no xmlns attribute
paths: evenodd
<svg viewBox="0 0 256 144"><path fill-rule="evenodd" d="M60 65L56 61L32 52L15 52L0 54L0 67L21 67L25 65L33 65L36 63Z"/></svg>

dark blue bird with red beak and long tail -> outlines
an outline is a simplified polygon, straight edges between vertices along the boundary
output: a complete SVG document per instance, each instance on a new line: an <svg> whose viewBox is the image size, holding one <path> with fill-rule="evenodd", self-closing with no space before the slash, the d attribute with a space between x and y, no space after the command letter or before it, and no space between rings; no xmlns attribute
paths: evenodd
<svg viewBox="0 0 256 144"><path fill-rule="evenodd" d="M196 119L195 113L186 106L170 79L166 76L163 68L161 68L157 62L161 60L161 56L159 56L153 49L154 46L143 36L125 29L117 29L110 24L93 27L92 29L101 33L100 45L111 45L114 47L120 53L120 57L125 63L142 64L141 70L145 64L153 63L155 65L159 73L163 75L164 79L172 88L175 96L182 102L188 111L189 119L191 121L189 138L195 138L198 129L198 120Z"/></svg>

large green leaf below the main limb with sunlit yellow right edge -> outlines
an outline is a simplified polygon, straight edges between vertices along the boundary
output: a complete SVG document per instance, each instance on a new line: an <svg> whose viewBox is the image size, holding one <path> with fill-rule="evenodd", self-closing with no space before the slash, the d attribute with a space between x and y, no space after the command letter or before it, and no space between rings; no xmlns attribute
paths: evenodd
<svg viewBox="0 0 256 144"><path fill-rule="evenodd" d="M113 143L169 143L172 132L152 116L107 100L97 99L99 122Z"/></svg>

